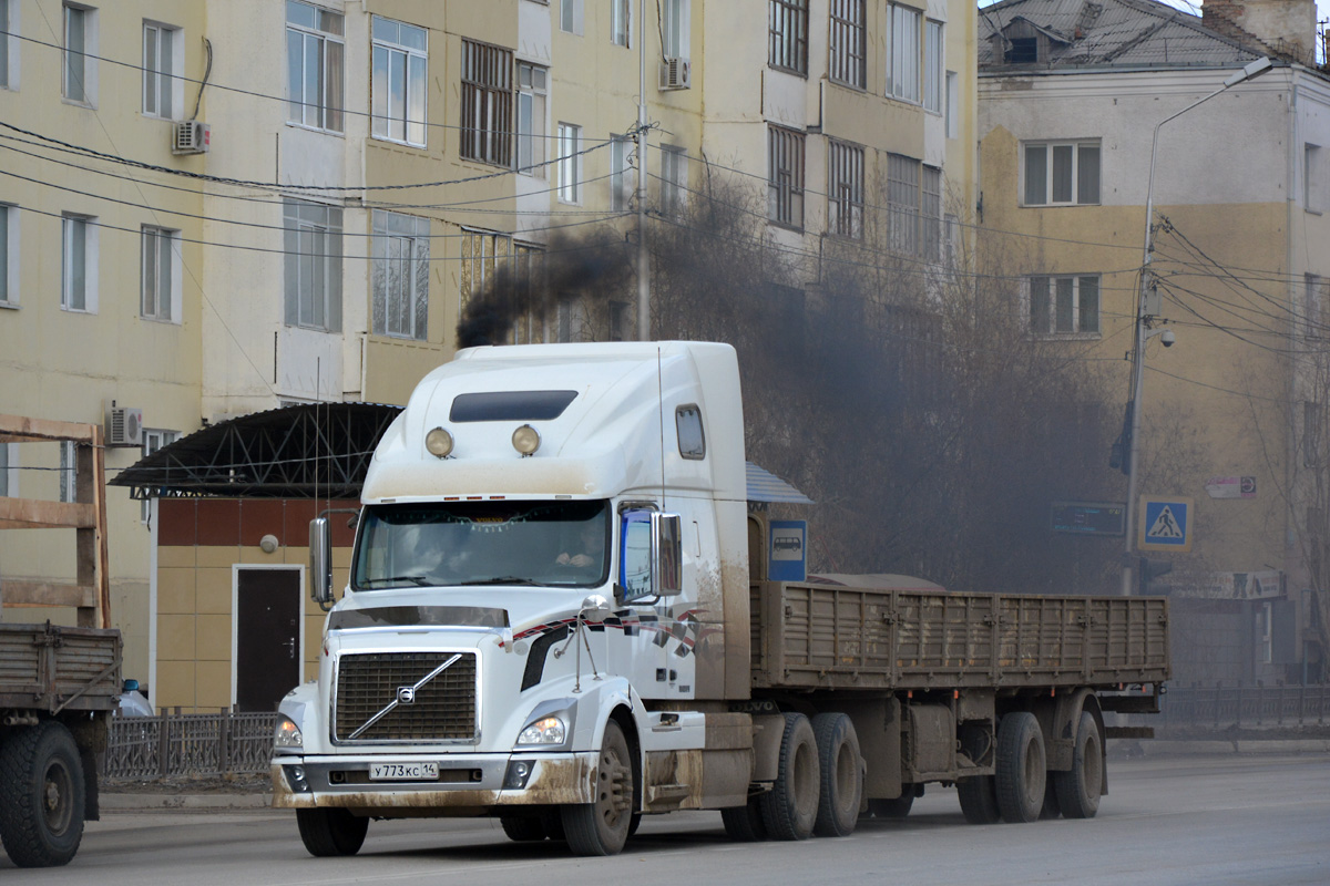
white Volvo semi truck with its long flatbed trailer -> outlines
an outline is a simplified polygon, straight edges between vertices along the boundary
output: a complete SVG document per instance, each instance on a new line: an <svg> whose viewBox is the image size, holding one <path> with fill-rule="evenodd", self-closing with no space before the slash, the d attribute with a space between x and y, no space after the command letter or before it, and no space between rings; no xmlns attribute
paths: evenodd
<svg viewBox="0 0 1330 886"><path fill-rule="evenodd" d="M583 855L676 809L843 836L927 782L974 822L1095 814L1104 713L1157 709L1168 679L1165 600L770 580L802 542L746 476L729 345L462 351L375 452L273 805L315 855L432 816ZM331 574L321 518L325 606Z"/></svg>

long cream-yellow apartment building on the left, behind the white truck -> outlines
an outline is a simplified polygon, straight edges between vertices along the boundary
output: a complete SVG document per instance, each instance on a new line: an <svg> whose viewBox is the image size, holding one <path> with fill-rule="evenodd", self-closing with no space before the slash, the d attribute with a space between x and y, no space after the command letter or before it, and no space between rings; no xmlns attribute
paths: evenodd
<svg viewBox="0 0 1330 886"><path fill-rule="evenodd" d="M948 221L978 199L976 24L960 0L0 9L0 410L138 409L148 430L109 453L112 474L263 410L404 402L456 349L466 306L496 280L520 296L552 240L637 236L644 158L646 236L730 177L769 197L769 238L818 255L862 240L890 191L914 231L899 248L940 264ZM636 286L622 288L596 310L519 306L505 340L634 337ZM4 452L0 476L56 495L56 470L25 469L57 464ZM286 570L281 592L303 600L303 545L283 530L261 547L245 518L217 517L238 506L202 499L188 519L227 529L185 533L185 506L153 495L190 489L137 493L149 501L110 494L126 673L160 705L234 704L239 575ZM16 553L0 549L7 574ZM318 611L301 606L307 669Z"/></svg>

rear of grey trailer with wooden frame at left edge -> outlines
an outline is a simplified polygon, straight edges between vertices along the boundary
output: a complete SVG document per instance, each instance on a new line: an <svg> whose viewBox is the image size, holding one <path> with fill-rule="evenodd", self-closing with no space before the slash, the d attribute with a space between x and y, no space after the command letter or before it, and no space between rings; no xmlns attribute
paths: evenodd
<svg viewBox="0 0 1330 886"><path fill-rule="evenodd" d="M98 758L121 691L120 631L109 627L102 432L97 425L0 416L0 442L73 442L73 502L0 498L0 529L76 537L73 584L0 575L7 619L69 606L77 626L0 624L0 841L15 865L65 865L96 821ZM7 573L20 565L7 565Z"/></svg>

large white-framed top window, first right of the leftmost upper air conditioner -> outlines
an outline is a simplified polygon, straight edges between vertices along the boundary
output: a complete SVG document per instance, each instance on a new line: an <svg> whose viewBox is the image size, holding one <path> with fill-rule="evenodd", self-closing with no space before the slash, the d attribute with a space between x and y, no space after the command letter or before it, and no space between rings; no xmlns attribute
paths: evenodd
<svg viewBox="0 0 1330 886"><path fill-rule="evenodd" d="M286 0L287 122L342 132L342 15Z"/></svg>

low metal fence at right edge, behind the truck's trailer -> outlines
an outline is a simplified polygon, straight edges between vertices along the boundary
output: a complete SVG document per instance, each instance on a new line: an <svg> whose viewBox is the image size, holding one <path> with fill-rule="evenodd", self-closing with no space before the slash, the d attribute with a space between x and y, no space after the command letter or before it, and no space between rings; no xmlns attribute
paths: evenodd
<svg viewBox="0 0 1330 886"><path fill-rule="evenodd" d="M1330 725L1330 685L1169 687L1156 729L1270 729Z"/></svg>

